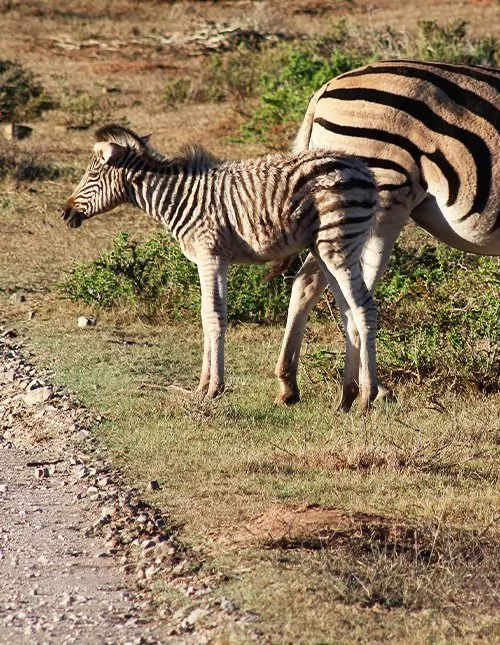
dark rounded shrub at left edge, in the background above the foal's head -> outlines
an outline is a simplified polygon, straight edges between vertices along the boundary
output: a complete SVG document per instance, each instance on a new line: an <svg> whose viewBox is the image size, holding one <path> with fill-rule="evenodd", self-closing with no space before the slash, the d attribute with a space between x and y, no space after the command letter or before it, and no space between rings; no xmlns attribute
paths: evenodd
<svg viewBox="0 0 500 645"><path fill-rule="evenodd" d="M35 119L51 107L32 72L14 61L0 60L0 121Z"/></svg>

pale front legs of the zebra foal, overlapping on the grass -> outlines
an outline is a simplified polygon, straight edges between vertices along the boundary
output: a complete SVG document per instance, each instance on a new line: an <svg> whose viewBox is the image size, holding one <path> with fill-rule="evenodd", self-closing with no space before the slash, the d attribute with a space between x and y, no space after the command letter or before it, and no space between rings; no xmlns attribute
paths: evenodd
<svg viewBox="0 0 500 645"><path fill-rule="evenodd" d="M224 341L227 328L227 262L210 257L198 263L203 326L203 364L198 391L213 399L224 385Z"/></svg>

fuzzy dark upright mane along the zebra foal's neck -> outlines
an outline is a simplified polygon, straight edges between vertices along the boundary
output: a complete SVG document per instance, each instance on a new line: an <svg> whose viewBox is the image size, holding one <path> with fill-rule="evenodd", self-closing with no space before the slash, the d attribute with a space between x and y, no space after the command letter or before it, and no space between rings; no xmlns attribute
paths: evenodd
<svg viewBox="0 0 500 645"><path fill-rule="evenodd" d="M130 148L138 155L147 157L169 168L172 166L187 166L194 167L197 171L204 171L221 163L220 159L197 144L183 146L179 154L174 157L167 157L149 145L149 137L141 137L133 130L116 123L110 123L99 128L95 133L95 138L96 141L117 143L120 146Z"/></svg>

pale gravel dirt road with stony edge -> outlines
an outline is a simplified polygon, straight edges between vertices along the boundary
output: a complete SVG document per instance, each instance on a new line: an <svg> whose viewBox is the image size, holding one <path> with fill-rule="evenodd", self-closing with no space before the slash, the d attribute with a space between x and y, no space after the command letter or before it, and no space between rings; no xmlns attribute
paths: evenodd
<svg viewBox="0 0 500 645"><path fill-rule="evenodd" d="M201 644L245 631L249 617L213 598L165 519L97 453L96 420L3 335L0 643ZM185 600L157 605L155 584Z"/></svg>

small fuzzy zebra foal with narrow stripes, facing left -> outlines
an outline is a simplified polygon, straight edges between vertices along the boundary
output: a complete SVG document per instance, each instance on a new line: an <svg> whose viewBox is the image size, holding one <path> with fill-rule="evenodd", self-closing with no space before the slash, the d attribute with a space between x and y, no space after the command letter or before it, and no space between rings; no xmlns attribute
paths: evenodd
<svg viewBox="0 0 500 645"><path fill-rule="evenodd" d="M376 309L361 275L360 253L378 205L377 186L360 161L326 150L216 160L200 149L168 158L147 137L108 125L96 133L90 164L62 213L73 228L122 203L164 224L198 266L204 334L198 390L224 390L228 265L265 263L310 248L339 306L352 312L346 332L342 407L359 388L368 409L377 393ZM349 364L358 343L360 364Z"/></svg>

